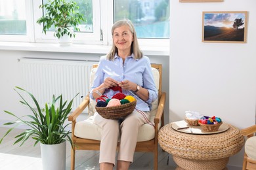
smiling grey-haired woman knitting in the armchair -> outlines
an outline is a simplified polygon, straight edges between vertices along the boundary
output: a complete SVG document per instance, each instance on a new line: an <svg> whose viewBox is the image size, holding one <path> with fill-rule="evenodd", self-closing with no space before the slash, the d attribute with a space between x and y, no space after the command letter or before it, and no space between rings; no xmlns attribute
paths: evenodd
<svg viewBox="0 0 256 170"><path fill-rule="evenodd" d="M116 165L116 148L119 140L117 169L129 169L137 144L140 126L148 122L152 101L158 97L150 59L140 51L135 28L130 20L119 20L112 27L113 46L102 56L93 82L91 97L101 95L112 98L119 91L137 99L135 110L123 120L102 118L95 113L95 124L101 127L100 169L113 169Z"/></svg>

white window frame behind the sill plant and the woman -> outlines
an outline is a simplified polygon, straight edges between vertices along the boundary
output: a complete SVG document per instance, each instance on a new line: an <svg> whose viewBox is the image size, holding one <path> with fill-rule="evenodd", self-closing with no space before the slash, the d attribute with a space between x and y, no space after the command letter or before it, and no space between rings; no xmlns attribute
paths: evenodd
<svg viewBox="0 0 256 170"><path fill-rule="evenodd" d="M0 35L0 41L13 42L47 42L58 43L54 31L45 35L43 25L36 23L43 14L39 9L42 1L25 0L27 35ZM114 0L93 0L93 27L94 33L77 32L73 44L106 45L112 46L111 28L114 24ZM100 33L101 31L101 33ZM100 40L102 37L102 40ZM140 46L155 46L169 48L169 39L138 39Z"/></svg>

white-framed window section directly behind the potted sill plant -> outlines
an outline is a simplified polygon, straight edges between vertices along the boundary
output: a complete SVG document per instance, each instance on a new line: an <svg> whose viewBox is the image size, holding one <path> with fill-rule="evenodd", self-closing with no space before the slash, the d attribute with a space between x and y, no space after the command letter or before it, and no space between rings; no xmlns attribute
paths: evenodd
<svg viewBox="0 0 256 170"><path fill-rule="evenodd" d="M43 10L39 10L39 5L47 3L49 0L33 1L35 15L34 20L43 15ZM70 1L70 0L68 0ZM83 44L102 44L100 42L100 0L74 0L79 5L79 12L85 14L86 22L79 25L81 31L75 33L74 43ZM56 42L54 37L54 27L47 31L46 35L42 33L43 25L35 22L35 41L37 42Z"/></svg>

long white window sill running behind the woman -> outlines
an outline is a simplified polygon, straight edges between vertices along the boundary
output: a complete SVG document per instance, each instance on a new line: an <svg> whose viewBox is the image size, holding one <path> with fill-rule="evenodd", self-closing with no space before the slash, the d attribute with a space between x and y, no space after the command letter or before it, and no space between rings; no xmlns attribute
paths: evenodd
<svg viewBox="0 0 256 170"><path fill-rule="evenodd" d="M106 45L71 44L70 46L60 46L56 43L0 42L0 50L107 54L110 48L111 46ZM166 46L140 46L140 48L145 56L169 56L169 47Z"/></svg>

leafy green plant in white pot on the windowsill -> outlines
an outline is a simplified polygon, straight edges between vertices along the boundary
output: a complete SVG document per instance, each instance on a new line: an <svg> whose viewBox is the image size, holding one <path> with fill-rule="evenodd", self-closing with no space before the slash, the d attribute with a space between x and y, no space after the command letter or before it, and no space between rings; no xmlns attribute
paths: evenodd
<svg viewBox="0 0 256 170"><path fill-rule="evenodd" d="M37 20L37 24L43 24L43 33L46 34L51 27L55 28L54 37L60 43L70 44L75 31L80 31L78 24L86 19L79 14L79 6L74 1L49 0L48 3L39 6L45 14ZM64 42L62 42L64 41Z"/></svg>

